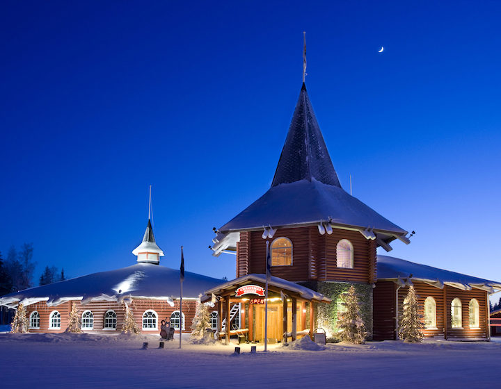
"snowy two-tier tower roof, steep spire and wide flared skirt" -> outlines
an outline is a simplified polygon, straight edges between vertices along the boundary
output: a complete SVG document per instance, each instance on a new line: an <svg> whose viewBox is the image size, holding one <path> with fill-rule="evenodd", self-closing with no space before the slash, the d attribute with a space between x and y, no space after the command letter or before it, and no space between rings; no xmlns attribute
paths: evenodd
<svg viewBox="0 0 501 389"><path fill-rule="evenodd" d="M369 231L388 251L395 238L408 243L407 231L342 189L303 84L271 188L218 230L212 249L234 250L239 231L321 223Z"/></svg>

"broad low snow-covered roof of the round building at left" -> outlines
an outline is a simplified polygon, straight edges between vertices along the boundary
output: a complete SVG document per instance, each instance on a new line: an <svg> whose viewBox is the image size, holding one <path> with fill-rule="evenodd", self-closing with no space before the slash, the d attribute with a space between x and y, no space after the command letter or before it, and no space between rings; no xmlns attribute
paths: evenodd
<svg viewBox="0 0 501 389"><path fill-rule="evenodd" d="M202 274L184 272L183 298L195 299L209 288L222 282ZM129 298L164 299L173 304L180 297L180 270L138 263L109 272L99 272L86 276L37 286L0 297L0 305L17 306L47 301L56 306L65 301L118 301Z"/></svg>

